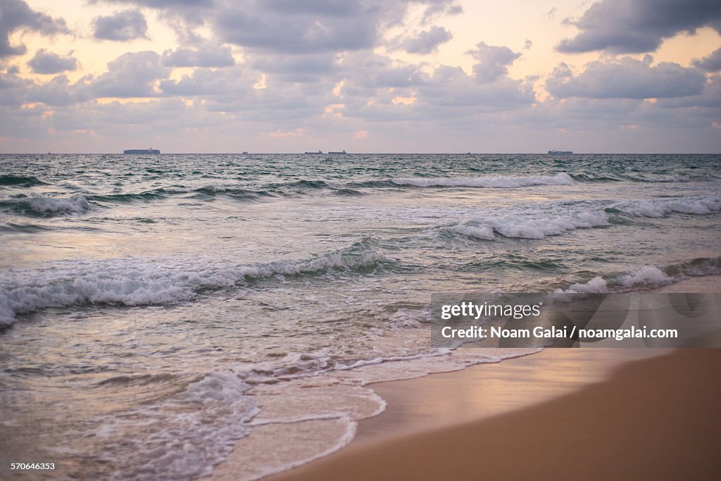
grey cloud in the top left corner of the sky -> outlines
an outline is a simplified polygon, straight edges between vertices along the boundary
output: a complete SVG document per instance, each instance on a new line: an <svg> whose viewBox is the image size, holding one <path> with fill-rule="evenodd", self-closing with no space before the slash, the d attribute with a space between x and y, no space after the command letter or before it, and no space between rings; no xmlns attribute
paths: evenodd
<svg viewBox="0 0 721 481"><path fill-rule="evenodd" d="M68 33L64 19L36 12L23 0L0 0L0 58L27 51L25 45L10 45L10 34L16 30L31 30L43 35Z"/></svg>

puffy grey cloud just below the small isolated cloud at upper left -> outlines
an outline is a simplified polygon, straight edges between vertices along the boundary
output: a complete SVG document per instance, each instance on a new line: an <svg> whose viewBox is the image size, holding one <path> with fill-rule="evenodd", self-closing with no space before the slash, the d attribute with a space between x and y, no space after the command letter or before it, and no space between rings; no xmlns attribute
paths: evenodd
<svg viewBox="0 0 721 481"><path fill-rule="evenodd" d="M160 65L160 56L149 50L124 53L107 64L107 72L90 79L81 90L85 97L156 97L156 80L170 69Z"/></svg>

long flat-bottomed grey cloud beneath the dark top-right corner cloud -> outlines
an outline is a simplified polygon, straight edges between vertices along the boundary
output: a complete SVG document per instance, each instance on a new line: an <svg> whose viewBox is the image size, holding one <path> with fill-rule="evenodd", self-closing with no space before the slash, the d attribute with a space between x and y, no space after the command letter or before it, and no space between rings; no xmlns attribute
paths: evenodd
<svg viewBox="0 0 721 481"><path fill-rule="evenodd" d="M557 98L596 99L685 97L702 91L706 79L701 71L670 62L651 66L652 62L651 56L643 61L621 58L590 62L578 76L561 63L547 80L546 89Z"/></svg>

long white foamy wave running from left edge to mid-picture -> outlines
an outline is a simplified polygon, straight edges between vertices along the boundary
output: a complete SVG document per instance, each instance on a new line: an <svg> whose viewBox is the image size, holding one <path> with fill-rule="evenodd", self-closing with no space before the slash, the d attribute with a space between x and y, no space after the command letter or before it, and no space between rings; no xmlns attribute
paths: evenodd
<svg viewBox="0 0 721 481"><path fill-rule="evenodd" d="M307 260L282 260L255 265L210 266L188 271L187 263L151 265L141 260L74 262L40 272L8 271L0 287L0 326L18 314L52 307L84 304L146 306L194 299L205 291L278 276L318 275L329 270L363 271L386 257L367 242Z"/></svg>

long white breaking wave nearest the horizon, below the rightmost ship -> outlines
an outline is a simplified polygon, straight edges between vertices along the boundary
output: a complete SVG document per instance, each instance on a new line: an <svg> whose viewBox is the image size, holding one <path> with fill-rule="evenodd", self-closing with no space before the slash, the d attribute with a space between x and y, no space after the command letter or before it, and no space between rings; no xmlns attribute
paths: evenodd
<svg viewBox="0 0 721 481"><path fill-rule="evenodd" d="M533 185L573 185L575 180L565 172L556 175L539 177L432 177L411 178L401 177L392 179L396 185L412 185L415 187L485 187L485 188L513 188L530 187Z"/></svg>

